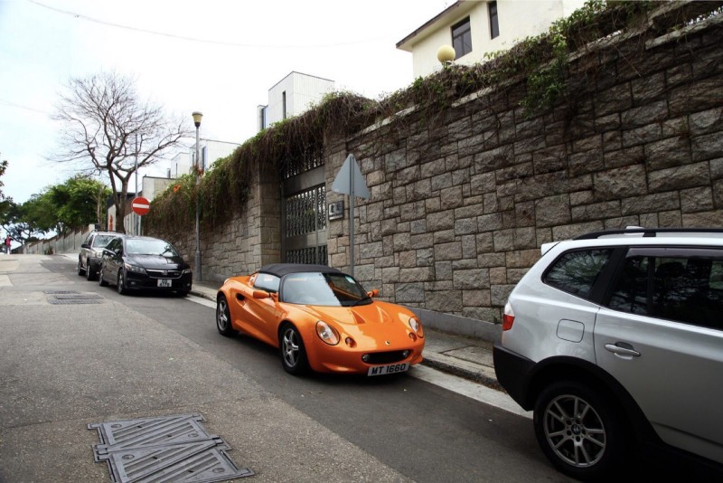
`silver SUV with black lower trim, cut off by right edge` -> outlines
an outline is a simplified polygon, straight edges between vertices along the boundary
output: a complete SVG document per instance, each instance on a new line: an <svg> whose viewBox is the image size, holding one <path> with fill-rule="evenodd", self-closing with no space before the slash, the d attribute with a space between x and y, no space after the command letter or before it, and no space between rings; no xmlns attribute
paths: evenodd
<svg viewBox="0 0 723 483"><path fill-rule="evenodd" d="M494 368L548 459L600 478L653 442L718 468L723 230L634 227L541 251L504 308Z"/></svg>

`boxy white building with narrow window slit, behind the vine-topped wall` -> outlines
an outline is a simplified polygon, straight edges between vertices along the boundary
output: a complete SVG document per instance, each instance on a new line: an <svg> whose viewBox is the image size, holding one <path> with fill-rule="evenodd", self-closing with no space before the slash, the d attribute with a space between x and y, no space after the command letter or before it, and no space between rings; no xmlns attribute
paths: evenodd
<svg viewBox="0 0 723 483"><path fill-rule="evenodd" d="M304 113L324 99L325 94L332 92L333 87L333 80L291 72L268 90L268 104L258 106L258 130Z"/></svg>

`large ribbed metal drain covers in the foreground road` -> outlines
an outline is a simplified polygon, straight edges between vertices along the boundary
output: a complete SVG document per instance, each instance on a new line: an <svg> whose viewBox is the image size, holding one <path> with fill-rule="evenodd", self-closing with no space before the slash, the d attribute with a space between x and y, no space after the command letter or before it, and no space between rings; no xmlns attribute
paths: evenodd
<svg viewBox="0 0 723 483"><path fill-rule="evenodd" d="M231 461L230 446L207 433L201 421L202 415L193 413L89 424L100 439L93 458L108 463L116 483L210 483L253 475Z"/></svg>

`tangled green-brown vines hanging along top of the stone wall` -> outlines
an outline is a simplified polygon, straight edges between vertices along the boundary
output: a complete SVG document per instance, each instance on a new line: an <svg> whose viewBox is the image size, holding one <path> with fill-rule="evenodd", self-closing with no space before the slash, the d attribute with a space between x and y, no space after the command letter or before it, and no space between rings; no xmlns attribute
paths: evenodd
<svg viewBox="0 0 723 483"><path fill-rule="evenodd" d="M521 107L525 115L535 115L584 94L568 91L571 53L585 52L596 43L632 30L670 32L721 14L722 4L592 0L552 24L547 33L528 37L508 51L493 52L485 62L452 65L420 77L408 88L385 98L372 100L351 92L334 92L315 108L259 132L233 154L216 161L202 175L200 184L196 185L192 175L179 178L155 198L146 226L163 232L183 230L192 223L197 198L202 223L225 223L249 199L249 186L256 173L281 170L286 160L323 145L325 136L348 136L375 121L388 119L390 128L384 136L401 137L412 129L406 123L434 126L444 121L444 112L455 100L486 88L504 90L522 80L526 90ZM413 121L399 115L408 108L416 111ZM380 142L395 141L388 138Z"/></svg>

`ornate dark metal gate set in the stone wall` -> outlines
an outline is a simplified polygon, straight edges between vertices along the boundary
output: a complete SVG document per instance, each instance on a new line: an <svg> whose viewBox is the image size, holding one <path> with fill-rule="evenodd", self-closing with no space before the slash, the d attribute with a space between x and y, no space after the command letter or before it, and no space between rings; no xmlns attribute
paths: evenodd
<svg viewBox="0 0 723 483"><path fill-rule="evenodd" d="M283 260L326 265L326 185L321 150L288 163L283 177Z"/></svg>

